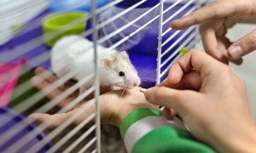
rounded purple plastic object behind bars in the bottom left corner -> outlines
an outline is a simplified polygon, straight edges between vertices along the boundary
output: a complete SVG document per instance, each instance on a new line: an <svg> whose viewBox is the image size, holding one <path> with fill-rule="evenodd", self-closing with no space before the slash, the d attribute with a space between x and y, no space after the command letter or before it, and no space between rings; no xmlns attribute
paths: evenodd
<svg viewBox="0 0 256 153"><path fill-rule="evenodd" d="M26 119L25 116L20 115L18 112L10 110L7 107L0 106L0 150L3 151L9 147L15 147L12 146L17 141L22 141L26 139L30 139L30 141L25 144L18 153L26 152L29 148L31 148L33 145L36 145L40 143L42 139L44 139L45 134L36 127L32 122ZM5 124L3 124L3 122ZM11 129L11 130L10 130ZM20 130L21 129L21 130ZM31 133L33 130L33 133ZM19 132L18 132L19 131ZM4 133L16 133L18 134L13 135L9 139L1 139L1 135ZM26 139L23 137L26 136ZM47 139L44 139L44 141L47 141ZM49 150L50 147L52 147L52 143L48 141L47 144L44 145L42 148L38 148L38 152L46 152Z"/></svg>

